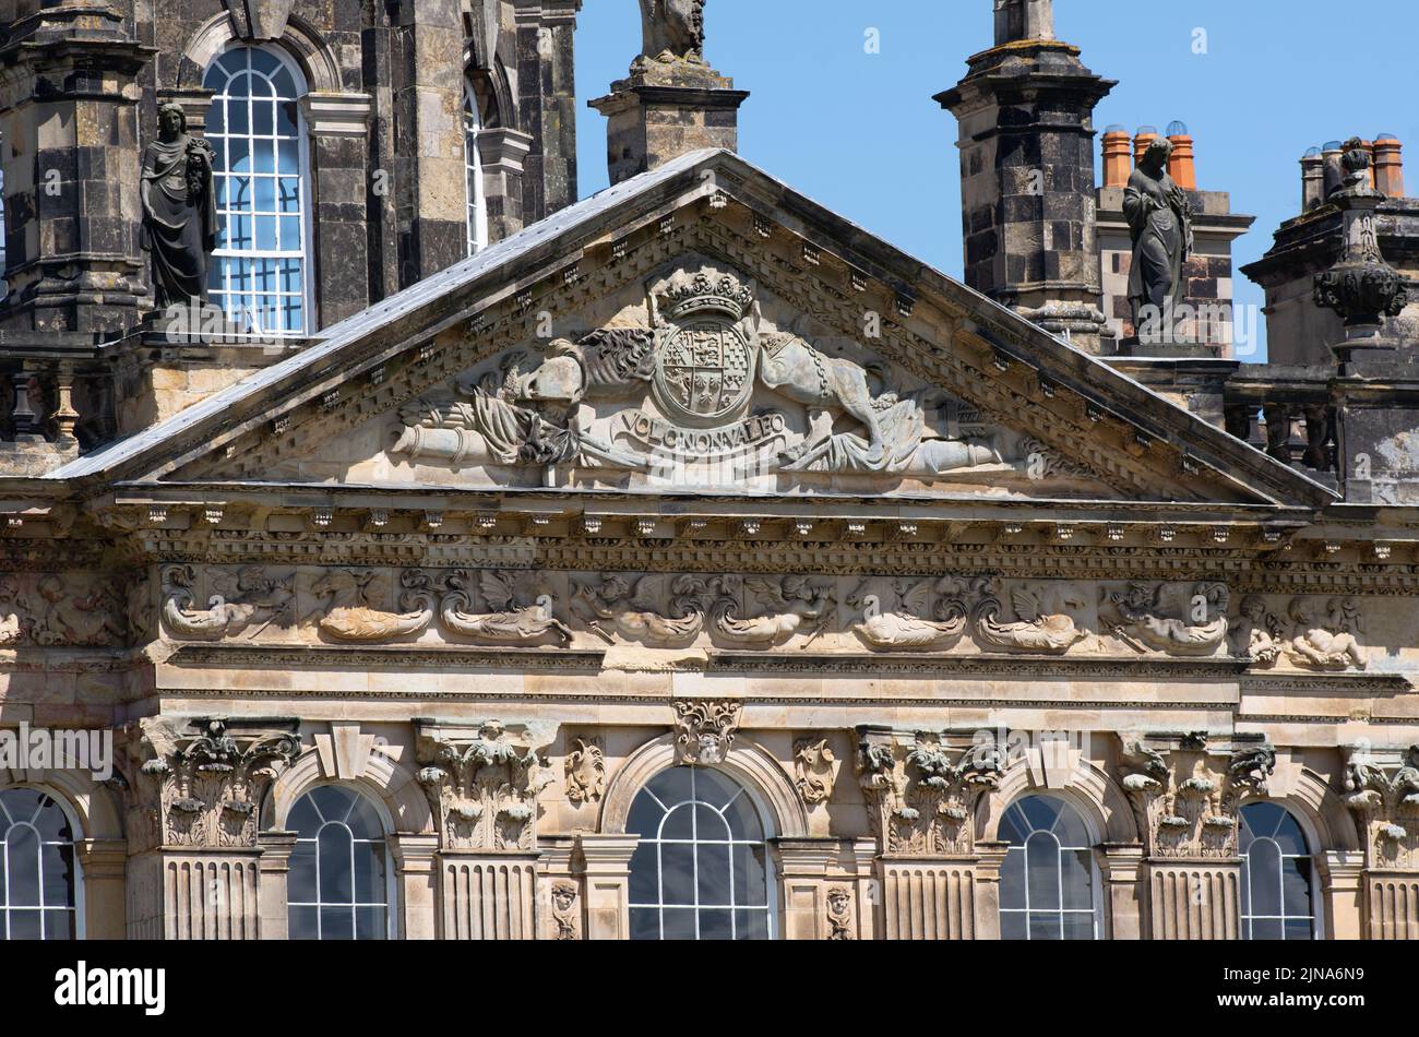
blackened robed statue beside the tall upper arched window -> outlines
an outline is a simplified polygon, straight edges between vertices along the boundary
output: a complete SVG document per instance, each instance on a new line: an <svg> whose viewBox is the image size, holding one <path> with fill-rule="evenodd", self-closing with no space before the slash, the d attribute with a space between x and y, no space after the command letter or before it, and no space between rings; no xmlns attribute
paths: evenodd
<svg viewBox="0 0 1419 1037"><path fill-rule="evenodd" d="M158 139L143 150L142 247L152 260L162 309L207 301L207 257L221 226L211 145L187 133L187 116L173 104L158 112Z"/></svg>

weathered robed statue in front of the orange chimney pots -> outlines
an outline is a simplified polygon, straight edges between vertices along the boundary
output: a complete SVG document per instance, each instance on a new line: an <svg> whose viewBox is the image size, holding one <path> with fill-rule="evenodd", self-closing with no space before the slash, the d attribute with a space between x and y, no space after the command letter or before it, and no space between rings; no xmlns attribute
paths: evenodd
<svg viewBox="0 0 1419 1037"><path fill-rule="evenodd" d="M1182 264L1192 253L1192 204L1168 174L1172 143L1158 138L1144 152L1124 192L1124 217L1132 235L1128 301L1137 335L1158 332L1182 301Z"/></svg>

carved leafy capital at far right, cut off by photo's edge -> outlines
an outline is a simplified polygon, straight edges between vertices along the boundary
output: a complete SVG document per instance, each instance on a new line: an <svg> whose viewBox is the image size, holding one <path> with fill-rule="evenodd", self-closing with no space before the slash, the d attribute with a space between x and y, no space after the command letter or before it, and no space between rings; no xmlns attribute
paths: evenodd
<svg viewBox="0 0 1419 1037"><path fill-rule="evenodd" d="M1419 745L1352 749L1345 804L1359 823L1369 867L1419 871Z"/></svg>

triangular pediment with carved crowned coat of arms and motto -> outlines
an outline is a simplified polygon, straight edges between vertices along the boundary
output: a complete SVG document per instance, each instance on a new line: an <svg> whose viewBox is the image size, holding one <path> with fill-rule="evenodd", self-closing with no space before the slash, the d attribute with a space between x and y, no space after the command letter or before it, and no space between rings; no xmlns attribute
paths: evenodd
<svg viewBox="0 0 1419 1037"><path fill-rule="evenodd" d="M587 199L57 472L616 494L1327 492L727 152Z"/></svg>

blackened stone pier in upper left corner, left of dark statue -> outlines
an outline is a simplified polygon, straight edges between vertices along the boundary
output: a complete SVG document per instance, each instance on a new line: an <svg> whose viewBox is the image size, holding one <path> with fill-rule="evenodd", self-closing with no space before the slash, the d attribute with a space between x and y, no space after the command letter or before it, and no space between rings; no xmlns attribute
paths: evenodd
<svg viewBox="0 0 1419 1037"><path fill-rule="evenodd" d="M0 47L6 281L0 325L119 338L146 295L136 77L116 4L21 4Z"/></svg>

